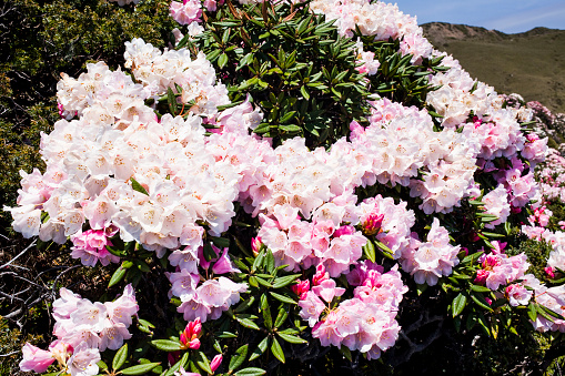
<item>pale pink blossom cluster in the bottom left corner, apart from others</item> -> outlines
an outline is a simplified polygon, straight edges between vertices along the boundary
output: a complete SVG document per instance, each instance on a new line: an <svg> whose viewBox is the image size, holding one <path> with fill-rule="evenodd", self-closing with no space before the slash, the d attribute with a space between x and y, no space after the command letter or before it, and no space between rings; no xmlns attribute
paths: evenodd
<svg viewBox="0 0 565 376"><path fill-rule="evenodd" d="M48 350L26 344L20 369L43 373L57 360L61 372L71 376L97 375L100 352L118 349L131 338L128 327L139 309L133 287L125 286L119 298L105 303L92 303L67 288L59 293L53 303L58 339Z"/></svg>

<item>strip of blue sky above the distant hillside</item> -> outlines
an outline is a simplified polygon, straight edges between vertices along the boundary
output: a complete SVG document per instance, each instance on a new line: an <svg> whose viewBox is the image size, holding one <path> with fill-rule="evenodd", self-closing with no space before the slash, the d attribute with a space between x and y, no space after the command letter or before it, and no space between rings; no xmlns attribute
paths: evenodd
<svg viewBox="0 0 565 376"><path fill-rule="evenodd" d="M416 16L418 23L463 23L506 33L535 27L565 30L565 0L384 0Z"/></svg>

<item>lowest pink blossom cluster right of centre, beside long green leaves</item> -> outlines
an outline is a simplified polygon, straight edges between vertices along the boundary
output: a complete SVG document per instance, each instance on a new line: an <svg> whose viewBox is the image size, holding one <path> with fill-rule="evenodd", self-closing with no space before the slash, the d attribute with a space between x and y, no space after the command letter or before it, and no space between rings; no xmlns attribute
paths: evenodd
<svg viewBox="0 0 565 376"><path fill-rule="evenodd" d="M322 346L343 344L366 353L369 359L376 359L381 352L394 345L400 332L395 317L407 287L397 266L383 272L380 265L361 262L347 274L349 283L356 286L353 297L341 301L334 308L332 301L345 289L336 287L322 265L312 278L312 289L307 280L294 288L301 296L300 315L312 326L312 336Z"/></svg>

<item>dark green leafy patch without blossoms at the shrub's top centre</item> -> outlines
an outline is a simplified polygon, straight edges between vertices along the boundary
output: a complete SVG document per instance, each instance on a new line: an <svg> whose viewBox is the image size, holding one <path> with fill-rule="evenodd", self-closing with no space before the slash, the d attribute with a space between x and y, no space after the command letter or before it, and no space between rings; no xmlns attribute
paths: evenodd
<svg viewBox="0 0 565 376"><path fill-rule="evenodd" d="M265 113L254 132L275 145L300 135L311 148L327 148L349 134L351 121L366 123L370 93L422 108L432 90L427 69L438 69L441 58L412 65L412 55L397 53L400 41L371 41L381 69L367 78L356 69L356 39L340 37L334 21L310 13L306 3L243 9L208 16L208 30L194 44L180 45L206 53L232 101L251 95Z"/></svg>

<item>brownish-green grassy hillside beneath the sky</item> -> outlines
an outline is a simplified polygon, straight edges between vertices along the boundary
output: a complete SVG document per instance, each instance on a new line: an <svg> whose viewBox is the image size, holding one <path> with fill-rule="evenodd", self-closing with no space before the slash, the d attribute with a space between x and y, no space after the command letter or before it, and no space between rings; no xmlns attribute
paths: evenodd
<svg viewBox="0 0 565 376"><path fill-rule="evenodd" d="M498 93L518 93L565 112L565 30L535 28L517 34L431 22L422 26L437 50L457 59Z"/></svg>

